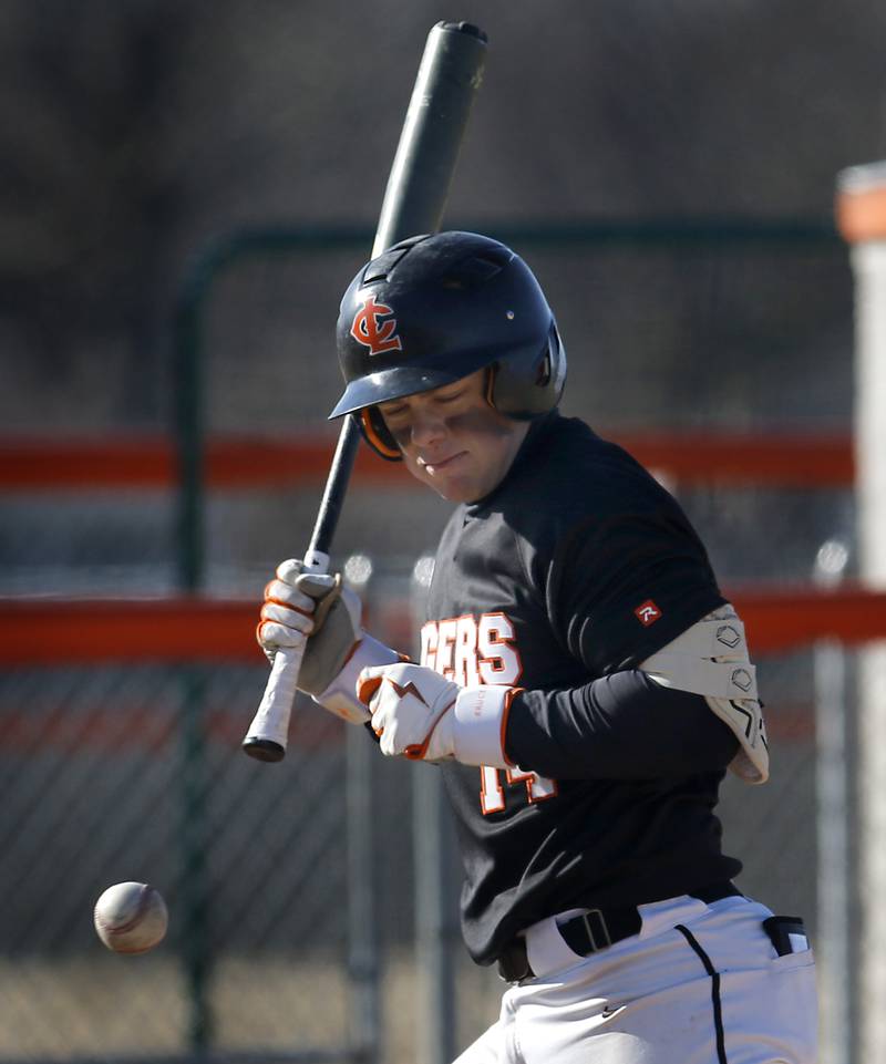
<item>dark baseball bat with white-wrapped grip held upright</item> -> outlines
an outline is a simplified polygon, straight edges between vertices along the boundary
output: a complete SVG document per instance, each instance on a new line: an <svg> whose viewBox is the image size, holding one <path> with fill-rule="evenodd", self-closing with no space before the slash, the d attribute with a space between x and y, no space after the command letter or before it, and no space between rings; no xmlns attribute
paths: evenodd
<svg viewBox="0 0 886 1064"><path fill-rule="evenodd" d="M486 34L468 22L437 22L429 33L388 177L373 258L398 240L440 229L485 59ZM303 556L306 571L329 571L329 552L359 442L357 422L348 416ZM277 762L286 756L302 654L301 648L280 649L275 654L264 698L243 744L251 757Z"/></svg>

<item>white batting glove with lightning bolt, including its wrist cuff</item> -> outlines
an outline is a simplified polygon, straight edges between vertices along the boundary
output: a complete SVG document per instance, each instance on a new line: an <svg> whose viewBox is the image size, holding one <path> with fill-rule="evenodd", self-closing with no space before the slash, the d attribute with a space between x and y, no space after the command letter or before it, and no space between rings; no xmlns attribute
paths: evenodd
<svg viewBox="0 0 886 1064"><path fill-rule="evenodd" d="M372 714L381 752L411 761L460 761L513 768L504 752L507 714L518 688L461 688L423 665L363 669L357 694Z"/></svg>

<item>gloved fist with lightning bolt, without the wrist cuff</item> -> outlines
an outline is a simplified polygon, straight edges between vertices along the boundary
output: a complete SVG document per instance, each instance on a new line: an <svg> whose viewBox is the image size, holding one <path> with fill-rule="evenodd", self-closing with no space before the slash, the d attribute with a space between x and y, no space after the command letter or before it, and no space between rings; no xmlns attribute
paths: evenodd
<svg viewBox="0 0 886 1064"><path fill-rule="evenodd" d="M363 669L357 681L381 752L412 761L454 756L452 709L461 690L431 669L403 663Z"/></svg>

